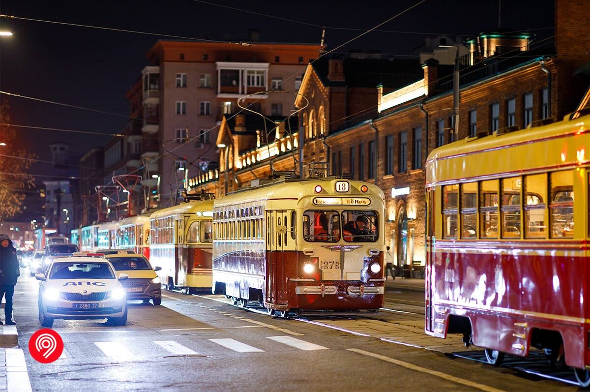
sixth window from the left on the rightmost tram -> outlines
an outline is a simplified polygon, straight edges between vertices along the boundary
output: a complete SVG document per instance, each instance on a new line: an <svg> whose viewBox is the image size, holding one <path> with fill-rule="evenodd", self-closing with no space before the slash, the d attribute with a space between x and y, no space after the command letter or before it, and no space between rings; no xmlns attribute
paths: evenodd
<svg viewBox="0 0 590 392"><path fill-rule="evenodd" d="M550 175L552 238L573 237L573 174L572 171L553 172Z"/></svg>

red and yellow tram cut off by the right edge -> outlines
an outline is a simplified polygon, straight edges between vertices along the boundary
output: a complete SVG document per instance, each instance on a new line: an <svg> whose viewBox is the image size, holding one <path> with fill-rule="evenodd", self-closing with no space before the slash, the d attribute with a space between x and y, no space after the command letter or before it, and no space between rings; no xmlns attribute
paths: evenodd
<svg viewBox="0 0 590 392"><path fill-rule="evenodd" d="M545 349L590 385L589 168L590 116L431 153L427 334L463 334L494 365Z"/></svg>

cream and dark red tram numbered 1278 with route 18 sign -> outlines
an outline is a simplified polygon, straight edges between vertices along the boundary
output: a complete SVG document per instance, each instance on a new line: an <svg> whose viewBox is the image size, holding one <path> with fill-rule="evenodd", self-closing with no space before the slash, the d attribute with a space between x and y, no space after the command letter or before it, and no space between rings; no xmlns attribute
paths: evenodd
<svg viewBox="0 0 590 392"><path fill-rule="evenodd" d="M378 187L337 178L281 178L215 200L213 290L283 317L379 309L383 214Z"/></svg>

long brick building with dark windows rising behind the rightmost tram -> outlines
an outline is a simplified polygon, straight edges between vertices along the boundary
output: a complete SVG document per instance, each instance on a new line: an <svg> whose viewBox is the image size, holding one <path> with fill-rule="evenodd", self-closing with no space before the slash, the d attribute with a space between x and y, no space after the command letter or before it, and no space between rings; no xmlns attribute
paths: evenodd
<svg viewBox="0 0 590 392"><path fill-rule="evenodd" d="M590 47L590 28L573 31L564 26L572 25L569 18L590 18L590 7L582 3L556 2L555 40L531 43L532 35L524 34L519 39L525 42L514 44L513 35L504 42L501 33L494 32L494 47L518 45L519 50L487 51L485 63L470 52L473 65L461 69L457 135L452 75L448 66L428 60L421 79L391 92L378 89L378 116L327 136L335 173L353 172L385 191L386 236L395 263L424 263L423 168L432 149L513 126L535 132L536 124L559 120L581 106L590 80L581 68L590 61L588 51L582 50ZM471 51L480 49L471 41L467 44Z"/></svg>

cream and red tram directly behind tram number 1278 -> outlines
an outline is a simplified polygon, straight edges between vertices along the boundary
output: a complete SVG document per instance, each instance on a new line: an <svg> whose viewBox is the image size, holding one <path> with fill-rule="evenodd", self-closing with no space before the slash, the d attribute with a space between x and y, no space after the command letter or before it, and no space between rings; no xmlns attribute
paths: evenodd
<svg viewBox="0 0 590 392"><path fill-rule="evenodd" d="M211 288L212 208L203 197L150 216L150 262L168 289Z"/></svg>

